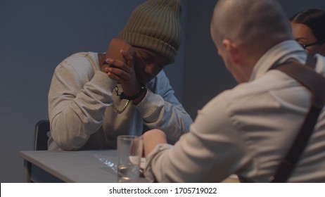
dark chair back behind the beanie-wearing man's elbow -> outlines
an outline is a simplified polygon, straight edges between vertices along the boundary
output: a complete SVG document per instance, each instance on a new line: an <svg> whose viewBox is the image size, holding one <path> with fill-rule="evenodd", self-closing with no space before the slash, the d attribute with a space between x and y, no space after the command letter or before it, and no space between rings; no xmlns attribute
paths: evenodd
<svg viewBox="0 0 325 197"><path fill-rule="evenodd" d="M47 150L47 141L49 139L50 122L49 120L39 120L35 126L34 151Z"/></svg>

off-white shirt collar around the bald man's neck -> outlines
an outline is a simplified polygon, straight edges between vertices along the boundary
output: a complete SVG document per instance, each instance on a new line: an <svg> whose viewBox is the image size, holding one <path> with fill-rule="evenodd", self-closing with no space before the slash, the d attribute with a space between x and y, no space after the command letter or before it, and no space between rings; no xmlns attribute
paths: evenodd
<svg viewBox="0 0 325 197"><path fill-rule="evenodd" d="M274 64L283 63L290 58L305 63L306 57L307 53L305 53L304 49L294 40L280 42L269 49L269 51L257 61L249 81L256 80L265 75L267 70Z"/></svg>

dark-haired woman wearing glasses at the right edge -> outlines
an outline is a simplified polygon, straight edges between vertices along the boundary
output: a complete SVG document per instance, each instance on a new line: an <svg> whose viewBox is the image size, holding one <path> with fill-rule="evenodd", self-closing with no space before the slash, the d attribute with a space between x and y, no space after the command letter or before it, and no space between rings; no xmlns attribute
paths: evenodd
<svg viewBox="0 0 325 197"><path fill-rule="evenodd" d="M308 9L290 18L293 38L310 56L325 56L325 11Z"/></svg>

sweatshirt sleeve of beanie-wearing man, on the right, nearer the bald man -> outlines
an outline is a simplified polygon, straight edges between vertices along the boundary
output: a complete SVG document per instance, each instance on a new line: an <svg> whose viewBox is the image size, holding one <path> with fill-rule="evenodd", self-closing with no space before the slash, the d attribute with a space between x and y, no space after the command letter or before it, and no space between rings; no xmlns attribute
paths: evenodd
<svg viewBox="0 0 325 197"><path fill-rule="evenodd" d="M193 120L174 96L165 72L161 71L147 84L147 88L144 100L135 107L149 129L163 130L168 143L174 144L181 134L189 132Z"/></svg>

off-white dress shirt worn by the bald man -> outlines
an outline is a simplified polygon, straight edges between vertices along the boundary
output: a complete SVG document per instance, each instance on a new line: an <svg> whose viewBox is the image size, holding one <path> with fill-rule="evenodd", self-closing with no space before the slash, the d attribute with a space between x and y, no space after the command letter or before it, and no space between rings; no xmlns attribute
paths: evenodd
<svg viewBox="0 0 325 197"><path fill-rule="evenodd" d="M293 40L267 51L250 81L212 98L198 111L190 132L174 146L160 144L148 155L145 175L157 182L221 182L230 174L269 182L286 155L310 107L310 91L274 63L306 53ZM325 75L325 58L317 55ZM288 182L325 182L324 110Z"/></svg>

